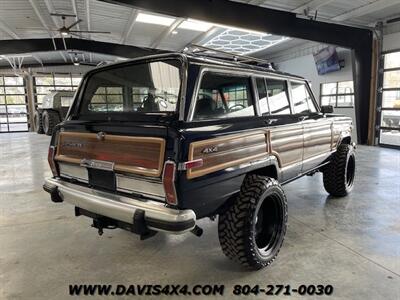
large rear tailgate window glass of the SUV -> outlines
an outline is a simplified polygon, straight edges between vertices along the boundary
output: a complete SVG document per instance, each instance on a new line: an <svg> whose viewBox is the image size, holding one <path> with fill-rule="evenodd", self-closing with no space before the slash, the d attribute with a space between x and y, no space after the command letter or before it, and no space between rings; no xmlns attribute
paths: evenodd
<svg viewBox="0 0 400 300"><path fill-rule="evenodd" d="M180 68L180 61L169 59L96 72L86 85L80 114L175 112Z"/></svg>

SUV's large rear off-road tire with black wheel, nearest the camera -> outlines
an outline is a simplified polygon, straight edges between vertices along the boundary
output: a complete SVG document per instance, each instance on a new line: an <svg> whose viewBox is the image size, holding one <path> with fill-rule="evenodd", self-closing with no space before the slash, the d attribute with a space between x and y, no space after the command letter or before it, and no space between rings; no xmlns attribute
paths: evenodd
<svg viewBox="0 0 400 300"><path fill-rule="evenodd" d="M264 211L270 205L276 208L270 210L276 212L276 230L273 231L270 250L262 253L256 241L256 225L259 210ZM235 202L219 215L219 242L228 258L258 270L271 264L278 255L286 227L287 200L280 184L270 177L248 175Z"/></svg>

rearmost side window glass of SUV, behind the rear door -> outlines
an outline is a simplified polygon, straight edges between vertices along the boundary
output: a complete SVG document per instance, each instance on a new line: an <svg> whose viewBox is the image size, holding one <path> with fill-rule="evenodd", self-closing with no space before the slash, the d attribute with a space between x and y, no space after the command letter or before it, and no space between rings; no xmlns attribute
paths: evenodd
<svg viewBox="0 0 400 300"><path fill-rule="evenodd" d="M254 116L250 77L205 73L193 120Z"/></svg>

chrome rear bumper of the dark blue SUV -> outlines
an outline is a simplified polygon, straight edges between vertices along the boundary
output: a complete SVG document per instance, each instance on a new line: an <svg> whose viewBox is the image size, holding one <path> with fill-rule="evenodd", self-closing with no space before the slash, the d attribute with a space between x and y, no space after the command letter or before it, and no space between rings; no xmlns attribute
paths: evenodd
<svg viewBox="0 0 400 300"><path fill-rule="evenodd" d="M74 206L129 224L133 224L133 216L137 210L143 210L145 212L145 219L148 218L170 223L190 220L196 221L196 214L190 209L172 209L166 207L165 204L161 202L137 200L97 191L68 183L61 179L47 178L45 184L50 187L57 187L61 198ZM174 231L172 233L187 232L193 229L193 227L185 229L184 231ZM156 231L163 231L150 226L149 228Z"/></svg>

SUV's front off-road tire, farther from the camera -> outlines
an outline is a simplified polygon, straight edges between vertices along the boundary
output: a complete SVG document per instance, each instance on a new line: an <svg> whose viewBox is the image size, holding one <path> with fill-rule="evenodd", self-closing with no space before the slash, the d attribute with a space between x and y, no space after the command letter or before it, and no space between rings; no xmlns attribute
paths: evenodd
<svg viewBox="0 0 400 300"><path fill-rule="evenodd" d="M323 169L325 190L334 197L346 196L353 189L354 175L354 147L341 144L331 162Z"/></svg>

